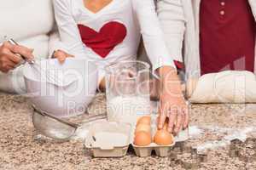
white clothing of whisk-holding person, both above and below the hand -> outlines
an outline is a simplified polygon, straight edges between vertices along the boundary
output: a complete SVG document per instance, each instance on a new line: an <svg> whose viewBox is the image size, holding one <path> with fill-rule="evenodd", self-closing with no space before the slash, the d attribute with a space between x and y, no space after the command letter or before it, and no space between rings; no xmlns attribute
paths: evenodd
<svg viewBox="0 0 256 170"><path fill-rule="evenodd" d="M13 37L21 45L34 49L37 58L48 58L57 40L51 34L55 25L52 0L5 0L0 5L0 46L3 37ZM53 36L52 36L53 35ZM22 67L0 71L0 90L21 93L25 90Z"/></svg>

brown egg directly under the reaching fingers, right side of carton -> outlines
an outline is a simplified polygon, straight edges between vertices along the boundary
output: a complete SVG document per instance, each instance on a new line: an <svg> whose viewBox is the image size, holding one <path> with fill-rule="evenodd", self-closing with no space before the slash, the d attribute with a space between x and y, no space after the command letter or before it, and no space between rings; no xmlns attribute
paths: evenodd
<svg viewBox="0 0 256 170"><path fill-rule="evenodd" d="M171 133L166 130L158 130L154 135L154 143L159 145L169 145L172 144L174 138Z"/></svg>

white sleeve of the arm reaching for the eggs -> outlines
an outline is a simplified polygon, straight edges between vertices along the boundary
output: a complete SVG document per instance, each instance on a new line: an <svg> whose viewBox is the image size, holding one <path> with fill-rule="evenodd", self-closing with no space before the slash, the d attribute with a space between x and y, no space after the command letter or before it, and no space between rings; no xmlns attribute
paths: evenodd
<svg viewBox="0 0 256 170"><path fill-rule="evenodd" d="M143 43L153 65L153 71L164 65L174 65L172 54L168 52L165 38L155 12L154 0L132 0L133 8L143 35Z"/></svg>

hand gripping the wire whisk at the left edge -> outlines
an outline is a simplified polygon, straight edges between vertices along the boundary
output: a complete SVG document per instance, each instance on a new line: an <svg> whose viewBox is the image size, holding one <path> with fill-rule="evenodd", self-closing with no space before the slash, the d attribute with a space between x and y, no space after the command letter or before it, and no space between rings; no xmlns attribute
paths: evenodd
<svg viewBox="0 0 256 170"><path fill-rule="evenodd" d="M23 55L26 59L33 59L32 52L33 49L3 42L3 45L0 46L0 71L7 73L15 69L15 66L22 61L22 58L17 54Z"/></svg>

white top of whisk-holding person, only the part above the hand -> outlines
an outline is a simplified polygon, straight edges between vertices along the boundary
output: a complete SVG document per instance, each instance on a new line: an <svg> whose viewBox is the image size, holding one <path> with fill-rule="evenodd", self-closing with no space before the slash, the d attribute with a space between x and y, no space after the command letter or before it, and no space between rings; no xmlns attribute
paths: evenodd
<svg viewBox="0 0 256 170"><path fill-rule="evenodd" d="M51 0L7 0L0 5L0 42L14 38L21 45L34 48L34 55L49 55L49 34L55 20Z"/></svg>

